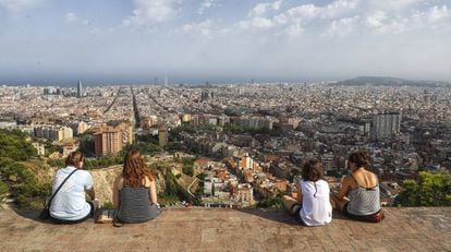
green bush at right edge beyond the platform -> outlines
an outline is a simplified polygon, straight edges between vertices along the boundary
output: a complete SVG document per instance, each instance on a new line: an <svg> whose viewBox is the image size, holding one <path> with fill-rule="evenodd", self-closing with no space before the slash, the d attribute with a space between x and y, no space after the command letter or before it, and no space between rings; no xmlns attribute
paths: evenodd
<svg viewBox="0 0 451 252"><path fill-rule="evenodd" d="M395 199L401 206L451 206L451 175L422 171L418 180L404 180Z"/></svg>

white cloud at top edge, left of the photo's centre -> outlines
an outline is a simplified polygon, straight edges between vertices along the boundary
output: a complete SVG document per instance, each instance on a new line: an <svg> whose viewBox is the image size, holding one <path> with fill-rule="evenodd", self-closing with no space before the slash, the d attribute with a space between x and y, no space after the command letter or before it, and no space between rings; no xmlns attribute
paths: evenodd
<svg viewBox="0 0 451 252"><path fill-rule="evenodd" d="M125 25L154 25L173 19L178 14L176 0L133 0L133 15L126 17Z"/></svg>

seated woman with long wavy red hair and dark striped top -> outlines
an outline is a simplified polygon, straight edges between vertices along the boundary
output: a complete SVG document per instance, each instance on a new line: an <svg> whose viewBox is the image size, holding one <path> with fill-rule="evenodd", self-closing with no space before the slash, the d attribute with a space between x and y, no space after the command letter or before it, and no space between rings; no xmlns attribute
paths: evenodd
<svg viewBox="0 0 451 252"><path fill-rule="evenodd" d="M139 151L130 151L113 185L113 207L120 223L144 223L160 214L154 176Z"/></svg>

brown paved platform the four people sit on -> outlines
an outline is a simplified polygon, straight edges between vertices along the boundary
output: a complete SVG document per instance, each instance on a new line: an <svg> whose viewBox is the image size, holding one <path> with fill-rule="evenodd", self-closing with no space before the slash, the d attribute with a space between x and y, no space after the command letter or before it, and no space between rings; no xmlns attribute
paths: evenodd
<svg viewBox="0 0 451 252"><path fill-rule="evenodd" d="M0 251L451 251L451 207L386 208L381 224L336 214L315 228L265 209L170 208L121 228L92 219L57 226L36 216L0 211Z"/></svg>

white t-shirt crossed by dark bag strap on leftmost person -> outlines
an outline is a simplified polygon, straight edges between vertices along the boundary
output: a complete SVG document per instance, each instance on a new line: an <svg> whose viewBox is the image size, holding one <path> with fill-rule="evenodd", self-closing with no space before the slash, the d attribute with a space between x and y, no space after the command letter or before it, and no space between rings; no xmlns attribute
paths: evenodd
<svg viewBox="0 0 451 252"><path fill-rule="evenodd" d="M52 193L60 187L64 179L76 169L73 166L59 169L53 178ZM85 191L93 187L93 177L86 170L78 169L54 196L50 206L50 215L63 220L78 220L90 212L90 205L86 202Z"/></svg>

